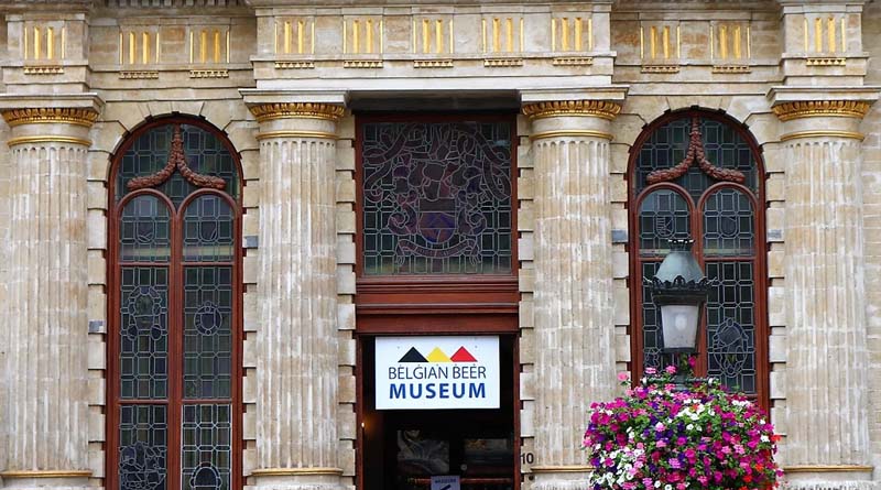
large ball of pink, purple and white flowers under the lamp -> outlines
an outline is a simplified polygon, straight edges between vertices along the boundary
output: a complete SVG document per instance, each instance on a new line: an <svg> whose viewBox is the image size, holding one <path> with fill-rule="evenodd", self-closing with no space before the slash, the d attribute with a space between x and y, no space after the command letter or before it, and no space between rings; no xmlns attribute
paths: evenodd
<svg viewBox="0 0 881 490"><path fill-rule="evenodd" d="M589 488L775 488L779 436L762 410L713 380L676 389L675 373L670 367L622 398L591 405L584 440L595 468Z"/></svg>

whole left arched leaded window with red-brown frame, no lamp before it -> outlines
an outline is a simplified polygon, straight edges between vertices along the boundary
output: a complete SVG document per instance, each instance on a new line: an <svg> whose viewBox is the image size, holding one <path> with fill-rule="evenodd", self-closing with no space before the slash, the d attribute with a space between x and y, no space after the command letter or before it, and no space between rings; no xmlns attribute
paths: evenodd
<svg viewBox="0 0 881 490"><path fill-rule="evenodd" d="M113 161L109 489L240 488L239 175L195 119L144 124Z"/></svg>

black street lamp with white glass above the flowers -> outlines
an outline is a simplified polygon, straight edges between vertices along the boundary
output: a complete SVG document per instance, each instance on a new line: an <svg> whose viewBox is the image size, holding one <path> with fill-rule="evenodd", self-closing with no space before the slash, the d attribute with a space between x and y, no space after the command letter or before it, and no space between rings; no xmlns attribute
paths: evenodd
<svg viewBox="0 0 881 490"><path fill-rule="evenodd" d="M652 300L661 309L661 350L664 353L697 351L697 330L713 284L692 253L694 242L692 239L668 240L670 253L654 277L646 279Z"/></svg>

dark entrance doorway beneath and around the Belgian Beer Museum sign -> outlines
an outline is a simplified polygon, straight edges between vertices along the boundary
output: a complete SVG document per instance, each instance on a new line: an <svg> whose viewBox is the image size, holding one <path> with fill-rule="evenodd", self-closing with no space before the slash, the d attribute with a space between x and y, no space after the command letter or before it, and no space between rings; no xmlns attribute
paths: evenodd
<svg viewBox="0 0 881 490"><path fill-rule="evenodd" d="M360 488L428 490L453 475L463 490L518 489L516 336L499 336L498 409L460 410L377 410L376 339L359 337Z"/></svg>

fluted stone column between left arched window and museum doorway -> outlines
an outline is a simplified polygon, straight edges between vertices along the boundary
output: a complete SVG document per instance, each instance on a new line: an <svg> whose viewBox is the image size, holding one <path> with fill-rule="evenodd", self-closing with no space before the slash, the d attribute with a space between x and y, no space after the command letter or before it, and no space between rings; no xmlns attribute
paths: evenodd
<svg viewBox="0 0 881 490"><path fill-rule="evenodd" d="M339 486L336 121L326 105L255 106L260 121L260 488Z"/></svg>

